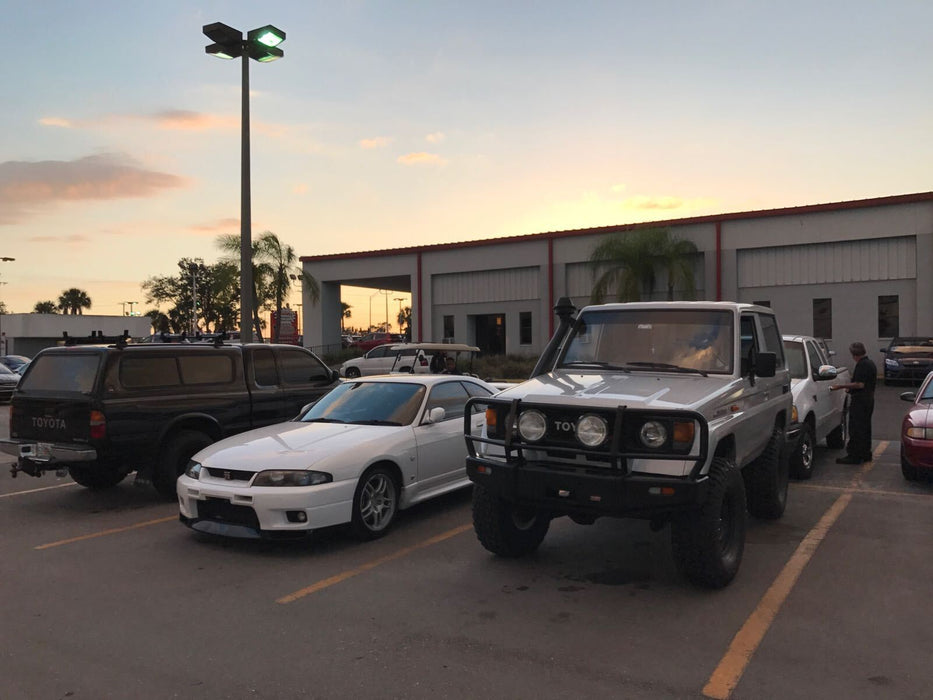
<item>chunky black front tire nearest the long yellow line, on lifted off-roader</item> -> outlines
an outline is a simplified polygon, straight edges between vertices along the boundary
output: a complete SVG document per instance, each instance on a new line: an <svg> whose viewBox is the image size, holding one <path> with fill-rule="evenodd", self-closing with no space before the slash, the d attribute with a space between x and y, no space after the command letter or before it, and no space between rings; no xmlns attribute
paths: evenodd
<svg viewBox="0 0 933 700"><path fill-rule="evenodd" d="M714 457L706 500L671 521L677 568L696 586L728 585L742 563L747 524L742 475L731 460Z"/></svg>

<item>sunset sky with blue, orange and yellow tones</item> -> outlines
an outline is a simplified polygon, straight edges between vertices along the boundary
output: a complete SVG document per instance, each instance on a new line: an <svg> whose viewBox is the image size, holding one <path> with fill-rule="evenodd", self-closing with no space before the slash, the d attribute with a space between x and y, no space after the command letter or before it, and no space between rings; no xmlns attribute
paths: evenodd
<svg viewBox="0 0 933 700"><path fill-rule="evenodd" d="M249 66L252 231L299 256L933 190L928 0L0 12L13 313L71 287L88 313L146 311L142 282L239 233L241 64L204 52L213 22L286 32L282 60ZM344 291L351 325L373 294Z"/></svg>

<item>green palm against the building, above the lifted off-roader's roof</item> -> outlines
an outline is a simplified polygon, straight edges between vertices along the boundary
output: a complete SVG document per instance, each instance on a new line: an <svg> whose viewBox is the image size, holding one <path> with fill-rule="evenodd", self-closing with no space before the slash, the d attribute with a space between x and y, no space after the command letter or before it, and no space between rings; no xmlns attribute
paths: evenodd
<svg viewBox="0 0 933 700"><path fill-rule="evenodd" d="M674 287L681 282L686 296L693 298L693 274L697 247L676 238L666 228L644 228L616 232L603 239L590 254L596 277L590 300L594 304L614 289L617 301L639 301L654 290L658 272L667 277L667 298L674 299Z"/></svg>

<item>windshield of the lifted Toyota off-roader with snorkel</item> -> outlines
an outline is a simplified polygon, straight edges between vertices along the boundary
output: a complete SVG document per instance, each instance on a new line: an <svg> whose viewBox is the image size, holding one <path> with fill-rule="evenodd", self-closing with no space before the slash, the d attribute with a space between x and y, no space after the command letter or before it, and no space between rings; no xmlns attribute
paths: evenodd
<svg viewBox="0 0 933 700"><path fill-rule="evenodd" d="M581 314L558 367L731 374L733 315L711 309L618 309Z"/></svg>

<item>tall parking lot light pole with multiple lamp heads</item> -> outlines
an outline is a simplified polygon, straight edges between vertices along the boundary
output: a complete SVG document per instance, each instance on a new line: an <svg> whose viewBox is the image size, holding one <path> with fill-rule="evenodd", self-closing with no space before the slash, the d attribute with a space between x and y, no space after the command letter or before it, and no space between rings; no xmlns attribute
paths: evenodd
<svg viewBox="0 0 933 700"><path fill-rule="evenodd" d="M253 29L243 39L243 32L223 22L205 24L204 35L213 44L204 47L205 53L217 58L242 58L242 116L240 118L240 340L253 340L253 242L250 228L250 183L249 183L249 61L268 63L282 58L282 49L276 48L285 41L285 32L271 24Z"/></svg>

